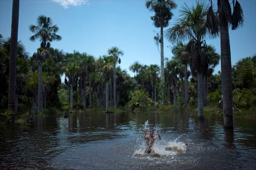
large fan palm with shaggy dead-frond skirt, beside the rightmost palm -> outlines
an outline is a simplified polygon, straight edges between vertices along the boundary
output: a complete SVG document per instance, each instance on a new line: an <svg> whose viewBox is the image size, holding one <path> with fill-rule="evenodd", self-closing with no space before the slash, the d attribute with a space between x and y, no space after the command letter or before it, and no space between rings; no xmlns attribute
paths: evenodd
<svg viewBox="0 0 256 170"><path fill-rule="evenodd" d="M203 94L203 72L207 59L201 56L201 48L205 46L206 37L216 37L218 34L210 34L206 26L206 15L208 5L204 2L196 2L196 7L189 8L185 3L182 6L181 18L172 28L165 32L170 42L181 42L190 40L187 50L190 55L190 68L194 76L197 75L198 89L198 119L204 119L204 94Z"/></svg>

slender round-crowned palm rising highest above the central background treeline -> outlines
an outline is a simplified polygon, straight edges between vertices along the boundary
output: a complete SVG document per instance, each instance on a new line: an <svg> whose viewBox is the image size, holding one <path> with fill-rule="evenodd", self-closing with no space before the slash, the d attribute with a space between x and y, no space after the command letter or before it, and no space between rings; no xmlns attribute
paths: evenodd
<svg viewBox="0 0 256 170"><path fill-rule="evenodd" d="M116 70L115 70L115 65L117 64L117 62L120 64L121 63L121 59L119 56L124 55L124 52L121 51L119 48L117 47L112 47L108 50L108 54L111 55L113 57L113 94L114 94L114 109L116 108Z"/></svg>

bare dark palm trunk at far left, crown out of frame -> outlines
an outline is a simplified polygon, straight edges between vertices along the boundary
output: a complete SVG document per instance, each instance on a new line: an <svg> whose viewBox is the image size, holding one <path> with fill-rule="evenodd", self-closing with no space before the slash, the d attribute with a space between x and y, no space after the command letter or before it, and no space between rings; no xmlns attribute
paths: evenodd
<svg viewBox="0 0 256 170"><path fill-rule="evenodd" d="M16 80L16 56L18 41L18 24L19 24L19 6L20 0L12 1L12 30L10 45L10 62L9 62L9 91L8 91L8 109L15 110L15 80ZM13 117L14 120L14 117Z"/></svg>

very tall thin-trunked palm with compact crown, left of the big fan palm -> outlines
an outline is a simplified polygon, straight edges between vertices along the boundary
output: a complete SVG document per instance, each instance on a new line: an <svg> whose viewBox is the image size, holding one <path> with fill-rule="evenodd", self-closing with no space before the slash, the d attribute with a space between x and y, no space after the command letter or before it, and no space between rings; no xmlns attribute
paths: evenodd
<svg viewBox="0 0 256 170"><path fill-rule="evenodd" d="M169 25L169 20L172 19L172 10L177 8L177 4L173 0L147 0L146 7L155 12L155 15L151 17L155 27L161 28L161 79L164 85L164 31L163 28ZM164 86L162 86L162 96L164 96ZM164 97L161 100L164 104Z"/></svg>

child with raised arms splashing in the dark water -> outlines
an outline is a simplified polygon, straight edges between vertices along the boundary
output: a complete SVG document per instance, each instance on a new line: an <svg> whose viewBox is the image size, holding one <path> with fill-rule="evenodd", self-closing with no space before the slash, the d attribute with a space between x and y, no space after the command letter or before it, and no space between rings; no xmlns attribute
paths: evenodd
<svg viewBox="0 0 256 170"><path fill-rule="evenodd" d="M154 130L153 129L149 130L149 136L146 136L147 129L143 129L143 131L144 131L143 139L147 141L147 149L145 150L145 152L146 153L151 153L152 146L155 142L155 139L161 140L161 136L160 136L158 130L156 130L157 136L154 136Z"/></svg>

